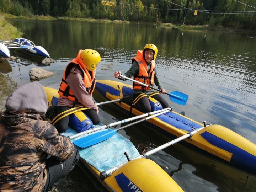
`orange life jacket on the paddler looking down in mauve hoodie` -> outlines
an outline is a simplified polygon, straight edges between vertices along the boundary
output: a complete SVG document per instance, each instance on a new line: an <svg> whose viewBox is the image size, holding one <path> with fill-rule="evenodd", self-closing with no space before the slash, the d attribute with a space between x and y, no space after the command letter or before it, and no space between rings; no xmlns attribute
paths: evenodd
<svg viewBox="0 0 256 192"><path fill-rule="evenodd" d="M90 71L91 72L91 75L90 75L89 71L86 69L86 67L82 63L82 60L80 59L81 52L82 52L82 50L80 50L78 52L78 55L76 56L76 58L71 60L71 62L66 66L64 73L63 73L63 77L62 77L62 82L60 83L60 88L58 91L60 97L66 97L70 101L78 101L78 99L74 95L73 91L70 89L68 83L66 82L66 78L67 78L68 74L70 73L70 70L73 65L75 65L75 64L79 65L80 69L84 73L83 81L84 81L86 90L90 95L92 95L92 92L94 91L94 87L95 87L96 71L95 70Z"/></svg>

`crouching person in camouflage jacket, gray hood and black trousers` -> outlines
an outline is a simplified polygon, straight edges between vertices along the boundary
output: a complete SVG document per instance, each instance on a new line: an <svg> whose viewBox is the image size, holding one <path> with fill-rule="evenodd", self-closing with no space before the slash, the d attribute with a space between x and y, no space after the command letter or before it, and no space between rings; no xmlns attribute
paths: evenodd
<svg viewBox="0 0 256 192"><path fill-rule="evenodd" d="M47 191L74 168L79 152L42 120L48 103L38 82L15 90L5 107L0 113L0 191Z"/></svg>

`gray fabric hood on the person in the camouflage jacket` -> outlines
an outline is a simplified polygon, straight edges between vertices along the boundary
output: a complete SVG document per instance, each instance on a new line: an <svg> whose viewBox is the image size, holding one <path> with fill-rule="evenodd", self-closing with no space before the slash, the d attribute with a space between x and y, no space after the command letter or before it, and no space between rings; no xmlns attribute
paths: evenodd
<svg viewBox="0 0 256 192"><path fill-rule="evenodd" d="M45 114L48 108L46 92L36 81L22 85L7 98L5 108L7 111L34 110Z"/></svg>

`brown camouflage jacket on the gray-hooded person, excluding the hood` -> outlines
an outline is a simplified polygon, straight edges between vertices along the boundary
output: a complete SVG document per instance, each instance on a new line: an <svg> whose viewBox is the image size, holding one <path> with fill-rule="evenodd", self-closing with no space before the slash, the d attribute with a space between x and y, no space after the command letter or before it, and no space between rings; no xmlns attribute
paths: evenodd
<svg viewBox="0 0 256 192"><path fill-rule="evenodd" d="M68 159L73 144L39 114L5 111L0 118L1 190L42 191L47 156Z"/></svg>

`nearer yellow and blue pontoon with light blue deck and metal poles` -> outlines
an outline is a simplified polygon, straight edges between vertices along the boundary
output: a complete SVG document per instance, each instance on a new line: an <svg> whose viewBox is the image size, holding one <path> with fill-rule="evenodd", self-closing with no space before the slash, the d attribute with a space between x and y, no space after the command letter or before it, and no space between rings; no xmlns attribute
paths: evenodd
<svg viewBox="0 0 256 192"><path fill-rule="evenodd" d="M59 97L58 90L49 87L44 87L44 90L46 91L49 107L55 105L56 100ZM111 102L116 101L117 100ZM105 103L109 102L103 102L101 104ZM84 144L84 141L90 140L88 137L92 137L95 134L113 132L112 129L106 130L105 128L147 116L147 118L141 120L151 119L166 113L170 108L99 126L92 126L88 117L86 117L82 111L79 111L79 107L74 110L76 112L70 115L70 118L72 118L71 116L74 116L74 121L71 121L71 124L69 124L74 129L69 128L62 134L69 137L71 142L78 146L81 162L88 167L107 190L131 192L183 191L160 166L154 161L145 158L146 156L178 142L178 140L172 141L172 143L167 143L165 146L160 146L160 148L148 151L142 155L139 154L137 149L128 139L118 133L111 134L111 137L108 139L101 139L101 142L86 143L86 146L80 145L81 143ZM73 109L71 109L71 111L73 111ZM74 123L75 121L76 123ZM77 126L80 126L80 128L83 127L84 131L80 133L76 132L75 129L77 129ZM130 124L127 124L126 126L130 126ZM126 126L123 126L122 128L125 128ZM85 134L87 135L86 137L84 137ZM180 139L182 140L183 138Z"/></svg>

